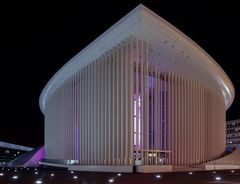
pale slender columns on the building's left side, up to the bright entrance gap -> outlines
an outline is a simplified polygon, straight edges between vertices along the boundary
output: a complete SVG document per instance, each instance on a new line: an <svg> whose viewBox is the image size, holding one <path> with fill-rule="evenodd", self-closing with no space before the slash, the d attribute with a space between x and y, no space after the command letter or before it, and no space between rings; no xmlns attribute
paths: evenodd
<svg viewBox="0 0 240 184"><path fill-rule="evenodd" d="M127 38L48 99L46 158L81 165L133 164L133 46L133 38Z"/></svg>

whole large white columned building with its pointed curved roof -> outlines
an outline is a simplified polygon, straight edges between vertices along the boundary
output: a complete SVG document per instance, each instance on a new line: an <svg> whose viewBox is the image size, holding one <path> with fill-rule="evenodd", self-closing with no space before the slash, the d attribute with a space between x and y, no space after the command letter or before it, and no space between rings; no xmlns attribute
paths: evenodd
<svg viewBox="0 0 240 184"><path fill-rule="evenodd" d="M46 162L104 170L210 161L224 152L233 99L220 66L139 5L45 86Z"/></svg>

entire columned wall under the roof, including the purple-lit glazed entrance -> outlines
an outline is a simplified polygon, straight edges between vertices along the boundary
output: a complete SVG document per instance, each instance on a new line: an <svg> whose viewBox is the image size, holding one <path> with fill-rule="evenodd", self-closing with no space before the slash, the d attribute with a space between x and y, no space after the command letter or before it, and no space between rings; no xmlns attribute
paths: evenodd
<svg viewBox="0 0 240 184"><path fill-rule="evenodd" d="M149 61L130 36L66 80L45 110L46 158L194 165L224 151L222 95Z"/></svg>

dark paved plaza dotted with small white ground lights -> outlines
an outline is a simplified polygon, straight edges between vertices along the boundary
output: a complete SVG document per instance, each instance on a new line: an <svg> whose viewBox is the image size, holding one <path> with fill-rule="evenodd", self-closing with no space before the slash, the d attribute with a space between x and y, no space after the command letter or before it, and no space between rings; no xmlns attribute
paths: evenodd
<svg viewBox="0 0 240 184"><path fill-rule="evenodd" d="M103 173L76 172L55 168L0 168L0 183L18 184L76 184L76 183L131 183L131 184L240 184L240 170L189 171L171 173Z"/></svg>

